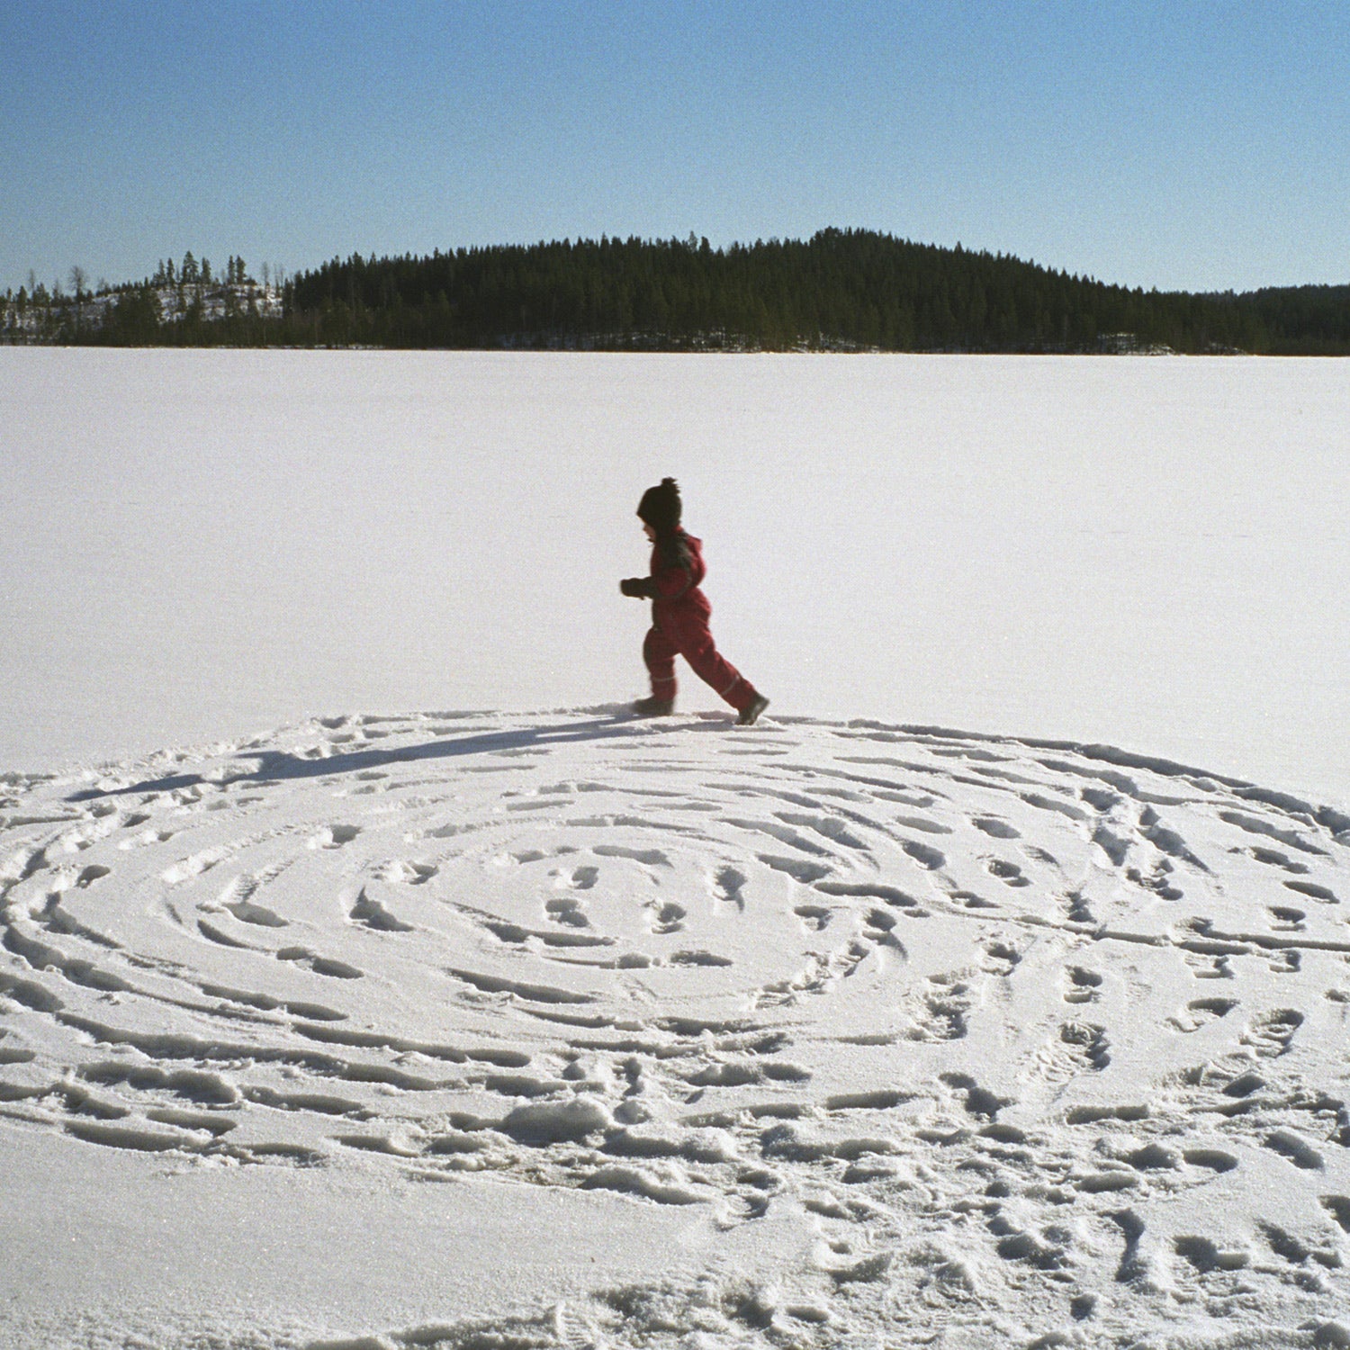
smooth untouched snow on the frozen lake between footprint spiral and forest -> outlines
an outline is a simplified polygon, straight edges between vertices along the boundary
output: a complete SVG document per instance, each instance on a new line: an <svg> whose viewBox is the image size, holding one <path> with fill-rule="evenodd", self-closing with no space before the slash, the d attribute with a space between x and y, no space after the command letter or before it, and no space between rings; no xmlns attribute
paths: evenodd
<svg viewBox="0 0 1350 1350"><path fill-rule="evenodd" d="M775 713L1350 802L1338 362L5 348L0 400L5 770L636 695L674 474Z"/></svg>

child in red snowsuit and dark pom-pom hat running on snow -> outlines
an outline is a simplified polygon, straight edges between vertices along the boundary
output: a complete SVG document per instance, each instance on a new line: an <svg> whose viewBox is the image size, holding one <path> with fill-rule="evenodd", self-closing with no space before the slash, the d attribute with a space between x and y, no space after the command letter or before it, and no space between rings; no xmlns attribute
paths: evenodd
<svg viewBox="0 0 1350 1350"><path fill-rule="evenodd" d="M679 487L663 478L648 487L637 505L643 531L655 545L649 576L629 576L618 583L625 595L652 602L652 628L643 643L643 660L652 676L652 697L640 698L633 711L667 717L675 711L675 656L688 662L694 674L711 684L741 716L741 726L753 726L768 699L734 666L718 655L707 620L713 613L698 589L706 575L702 544L680 529Z"/></svg>

